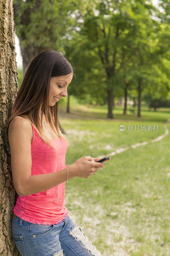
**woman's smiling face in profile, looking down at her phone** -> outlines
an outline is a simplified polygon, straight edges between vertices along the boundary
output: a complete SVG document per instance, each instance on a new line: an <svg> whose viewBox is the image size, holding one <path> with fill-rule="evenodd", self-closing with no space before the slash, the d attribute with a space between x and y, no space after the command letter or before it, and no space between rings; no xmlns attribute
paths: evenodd
<svg viewBox="0 0 170 256"><path fill-rule="evenodd" d="M50 89L49 89L49 105L54 106L57 102L54 97L61 98L67 97L67 87L71 83L73 78L73 73L67 76L54 76L50 79ZM64 81L61 81L64 80ZM66 84L67 83L67 84ZM59 101L59 99L58 99Z"/></svg>

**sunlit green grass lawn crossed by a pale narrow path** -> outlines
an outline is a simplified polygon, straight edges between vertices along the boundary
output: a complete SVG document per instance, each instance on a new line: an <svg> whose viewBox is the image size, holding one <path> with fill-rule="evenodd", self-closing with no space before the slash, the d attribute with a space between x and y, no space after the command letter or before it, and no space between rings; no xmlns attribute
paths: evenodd
<svg viewBox="0 0 170 256"><path fill-rule="evenodd" d="M64 99L66 100L66 99ZM114 108L115 119L107 119L107 106L84 106L70 100L61 102L59 120L67 132L66 165L82 156L105 157L117 149L148 141L110 156L88 179L74 178L66 183L69 216L104 256L170 255L170 133L164 123L169 109L148 111L141 118L122 115ZM137 113L137 112L136 112ZM126 130L120 132L119 125ZM128 125L159 125L158 131L128 131ZM153 126L152 126L153 127ZM167 124L170 130L170 123Z"/></svg>

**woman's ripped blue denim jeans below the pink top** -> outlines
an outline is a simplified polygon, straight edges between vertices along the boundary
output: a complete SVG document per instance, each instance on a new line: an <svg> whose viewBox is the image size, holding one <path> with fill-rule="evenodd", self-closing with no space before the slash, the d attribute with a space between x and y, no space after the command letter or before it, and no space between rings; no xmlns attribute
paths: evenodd
<svg viewBox="0 0 170 256"><path fill-rule="evenodd" d="M12 218L12 235L22 256L102 256L70 217L58 224L34 224Z"/></svg>

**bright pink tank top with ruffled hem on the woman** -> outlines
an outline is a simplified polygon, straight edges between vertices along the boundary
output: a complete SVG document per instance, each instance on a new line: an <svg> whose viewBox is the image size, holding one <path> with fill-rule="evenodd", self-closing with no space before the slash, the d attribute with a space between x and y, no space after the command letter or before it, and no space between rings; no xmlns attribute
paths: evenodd
<svg viewBox="0 0 170 256"><path fill-rule="evenodd" d="M39 136L32 125L31 144L32 175L57 172L66 167L67 143L60 137L50 140L57 149L51 148ZM29 196L18 196L13 212L31 223L51 225L62 221L68 211L65 207L65 181L54 188Z"/></svg>

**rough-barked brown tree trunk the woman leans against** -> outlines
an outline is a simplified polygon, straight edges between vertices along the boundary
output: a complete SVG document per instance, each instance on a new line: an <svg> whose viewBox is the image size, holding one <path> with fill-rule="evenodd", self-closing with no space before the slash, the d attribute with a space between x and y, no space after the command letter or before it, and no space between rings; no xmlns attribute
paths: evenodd
<svg viewBox="0 0 170 256"><path fill-rule="evenodd" d="M13 207L18 195L12 181L10 147L7 140L7 119L18 88L12 2L2 0L0 4L0 255L3 256L20 255L12 236Z"/></svg>

